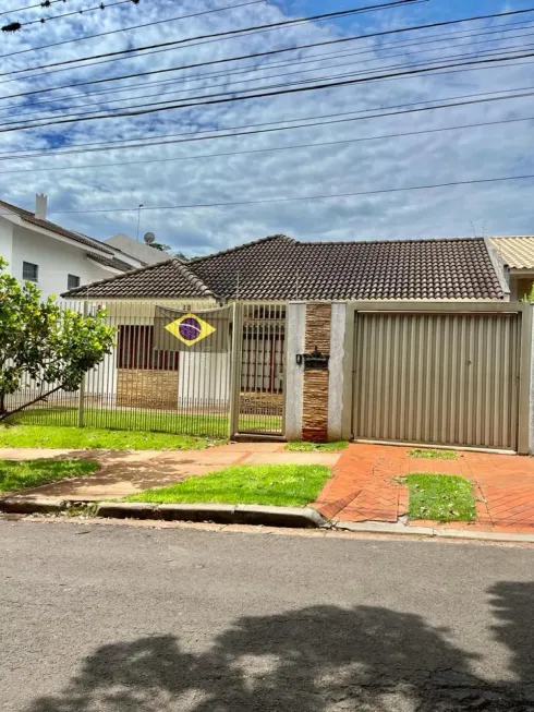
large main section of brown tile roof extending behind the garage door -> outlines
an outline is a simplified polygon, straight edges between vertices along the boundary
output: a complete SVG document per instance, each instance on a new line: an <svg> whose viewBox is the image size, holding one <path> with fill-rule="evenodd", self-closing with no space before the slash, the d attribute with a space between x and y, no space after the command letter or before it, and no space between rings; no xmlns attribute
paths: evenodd
<svg viewBox="0 0 534 712"><path fill-rule="evenodd" d="M298 242L272 236L192 260L190 276L220 299L502 299L483 239ZM94 297L189 297L156 265L143 283L130 275L92 287ZM183 265L182 265L183 267ZM104 282L101 282L104 283ZM132 287L135 283L135 294ZM187 281L190 283L190 281ZM144 291L145 290L145 291ZM80 293L78 290L69 295Z"/></svg>

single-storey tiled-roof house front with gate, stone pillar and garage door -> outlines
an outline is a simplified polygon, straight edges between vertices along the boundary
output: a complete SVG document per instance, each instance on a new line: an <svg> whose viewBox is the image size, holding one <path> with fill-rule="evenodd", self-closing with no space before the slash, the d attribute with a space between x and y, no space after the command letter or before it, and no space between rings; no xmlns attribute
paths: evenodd
<svg viewBox="0 0 534 712"><path fill-rule="evenodd" d="M175 413L180 427L227 413L230 435L529 451L531 307L510 301L485 239L272 236L108 278L89 294L118 329L113 407ZM226 350L158 340L182 323L201 333L229 305L217 327Z"/></svg>

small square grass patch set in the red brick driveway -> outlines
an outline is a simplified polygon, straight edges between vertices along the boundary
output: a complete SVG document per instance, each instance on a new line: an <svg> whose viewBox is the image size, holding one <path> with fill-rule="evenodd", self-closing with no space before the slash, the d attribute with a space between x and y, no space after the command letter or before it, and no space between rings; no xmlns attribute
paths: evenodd
<svg viewBox="0 0 534 712"><path fill-rule="evenodd" d="M436 521L474 521L476 500L469 480L451 474L409 474L409 517Z"/></svg>

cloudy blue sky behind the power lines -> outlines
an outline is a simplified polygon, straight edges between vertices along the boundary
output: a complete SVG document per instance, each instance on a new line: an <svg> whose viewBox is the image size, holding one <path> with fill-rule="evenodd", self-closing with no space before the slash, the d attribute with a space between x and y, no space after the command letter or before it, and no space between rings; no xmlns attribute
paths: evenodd
<svg viewBox="0 0 534 712"><path fill-rule="evenodd" d="M226 4L231 4L227 0ZM218 3L221 7L221 3ZM11 0L11 7L19 7L17 0ZM158 3L141 3L138 7L126 4L104 12L93 12L74 19L50 22L44 26L22 31L3 39L2 53L16 51L26 47L61 41L63 39L99 32L114 31L120 27L142 22L161 20L177 14L197 12L215 7L207 0L185 2L177 11L171 0ZM84 43L63 45L38 52L15 55L4 58L2 71L36 67L54 61L63 61L84 55L98 55L124 47L151 45L172 39L215 33L236 26L247 26L283 19L283 5L275 7L264 3L221 13L192 17L182 22L166 23L129 33L118 33ZM425 5L427 8L427 5ZM59 12L60 5L52 5L50 14ZM501 10L503 10L503 5ZM53 13L52 13L53 10ZM292 13L306 12L305 3L292 5ZM499 8L495 7L495 12ZM160 52L98 64L75 71L45 73L39 79L23 80L0 84L0 96L19 94L83 82L89 79L102 79L117 74L146 72L180 64L210 61L223 57L268 51L269 49L291 46L355 34L375 29L410 25L417 22L432 22L428 9L421 8L361 15L344 25L317 24L289 27L277 32L255 34L197 45L182 47L168 52ZM425 14L426 13L426 14ZM25 13L28 16L28 13ZM35 11L31 16L40 16ZM534 16L512 17L510 22L532 19ZM481 28L482 23L451 27L447 32L466 32ZM484 23L488 26L488 23ZM513 35L533 36L517 37ZM436 34L427 33L427 34ZM187 95L209 92L229 90L228 82L254 79L250 84L232 85L231 89L246 86L275 84L300 79L320 77L328 74L365 71L380 65L400 64L408 61L446 59L461 52L499 50L511 45L531 48L534 37L533 28L518 33L505 33L495 36L498 41L493 45L471 45L473 39L454 39L449 45L425 45L420 47L391 48L379 50L385 41L410 41L423 39L421 33L389 37L387 40L366 40L341 46L327 46L307 52L300 52L302 58L323 52L355 52L371 50L369 55L345 56L342 58L317 60L316 64L299 67L276 67L255 74L240 74L215 79L179 80L192 77L209 71L228 72L232 65L215 65L187 72L148 76L145 80L111 85L95 85L63 90L64 105L36 105L54 95L38 95L20 99L0 101L0 108L13 106L11 111L0 112L1 121L15 121L37 110L50 114L51 109L61 111L87 111L88 108L74 107L92 101L122 98L122 104L100 104L100 108L117 109L132 104L150 101L143 99L147 94L162 94L165 100L175 93ZM487 39L487 37L481 37ZM434 50L434 51L430 51ZM398 57L399 53L403 53ZM388 59L388 56L395 55ZM262 65L288 62L295 55L282 55L258 61ZM378 60L378 61L377 61ZM335 67L328 71L328 67ZM243 65L235 63L233 69ZM122 118L98 122L82 122L63 126L49 126L39 131L0 133L0 152L43 150L57 145L110 141L116 138L139 138L147 134L175 134L182 132L224 129L260 122L284 121L327 114L368 110L376 107L402 105L412 101L425 101L448 98L465 94L496 92L530 86L532 83L532 63L517 63L510 67L485 71L439 74L398 79L396 81L374 82L337 89L315 93L302 93L257 99L220 106L201 107L159 112L136 118ZM259 76L283 72L306 70L277 79L259 80ZM307 70L315 69L314 72ZM150 83L175 77L177 83L151 86ZM1 77L0 77L1 79ZM11 79L11 77L9 77ZM224 86L214 87L214 84ZM129 84L145 84L144 88L128 93L113 94L112 88ZM70 99L74 95L95 89L110 88L109 94ZM59 93L58 93L59 95ZM125 97L133 96L128 101ZM54 97L56 98L56 97ZM138 149L81 154L63 157L45 157L21 161L1 160L0 172L15 168L44 167L82 167L78 170L36 171L20 174L0 176L0 196L3 200L31 207L35 192L49 195L50 217L57 221L105 238L113 232L135 233L136 213L98 213L80 215L61 215L62 210L118 209L135 208L139 203L145 206L217 203L231 201L253 201L275 197L291 197L306 194L328 194L338 192L357 192L386 190L405 185L439 183L458 180L476 180L500 176L534 173L532 159L532 136L534 121L509 123L461 131L442 131L424 133L416 136L384 138L361 143L347 143L336 146L299 148L294 150L234 155L226 157L197 158L194 160L175 160L166 162L147 162L144 165L123 166L123 161L149 160L151 158L179 158L202 154L223 153L289 146L301 143L339 141L389 133L442 129L480 121L500 121L510 118L534 116L532 97L511 101L496 101L464 106L453 109L410 113L400 117L367 119L355 122L338 123L307 128L288 132L265 133L252 136L239 136L218 141L187 143L183 145L162 145ZM59 116L59 114L58 114ZM90 168L95 164L112 164L106 168ZM142 230L153 230L162 242L173 245L190 254L206 253L211 250L257 239L265 234L284 232L303 240L362 240L378 238L410 238L427 236L452 236L472 233L475 230L486 233L532 232L532 182L515 181L487 185L437 189L433 191L414 191L381 194L374 196L344 197L329 201L279 203L269 205L232 206L223 208L199 208L179 210L145 212L142 217ZM56 213L58 213L56 215Z"/></svg>

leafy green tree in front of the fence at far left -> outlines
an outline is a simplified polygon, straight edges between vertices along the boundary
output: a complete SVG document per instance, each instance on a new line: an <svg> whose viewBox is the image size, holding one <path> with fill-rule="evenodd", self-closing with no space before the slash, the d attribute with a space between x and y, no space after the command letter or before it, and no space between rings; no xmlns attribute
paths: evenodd
<svg viewBox="0 0 534 712"><path fill-rule="evenodd" d="M114 336L104 311L84 316L60 309L53 297L41 300L32 282L8 275L7 266L0 257L0 421L58 390L77 390L84 374L111 352ZM24 393L23 381L39 395L10 410L7 397Z"/></svg>

